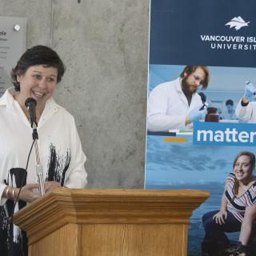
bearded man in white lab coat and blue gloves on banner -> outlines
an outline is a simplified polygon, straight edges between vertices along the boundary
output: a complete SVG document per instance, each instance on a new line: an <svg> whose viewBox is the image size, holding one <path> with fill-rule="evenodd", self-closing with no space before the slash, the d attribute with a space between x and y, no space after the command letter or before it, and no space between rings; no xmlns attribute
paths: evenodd
<svg viewBox="0 0 256 256"><path fill-rule="evenodd" d="M206 115L197 90L206 90L210 80L206 66L186 66L179 78L154 88L148 100L147 129L190 129Z"/></svg>

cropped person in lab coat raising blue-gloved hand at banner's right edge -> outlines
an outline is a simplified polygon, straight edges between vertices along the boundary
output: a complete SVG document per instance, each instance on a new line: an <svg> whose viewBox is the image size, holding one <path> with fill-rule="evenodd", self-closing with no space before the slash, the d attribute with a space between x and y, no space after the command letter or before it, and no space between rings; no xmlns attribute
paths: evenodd
<svg viewBox="0 0 256 256"><path fill-rule="evenodd" d="M256 102L250 102L255 93L255 86L251 82L246 82L245 92L235 109L235 114L239 120L256 122Z"/></svg>

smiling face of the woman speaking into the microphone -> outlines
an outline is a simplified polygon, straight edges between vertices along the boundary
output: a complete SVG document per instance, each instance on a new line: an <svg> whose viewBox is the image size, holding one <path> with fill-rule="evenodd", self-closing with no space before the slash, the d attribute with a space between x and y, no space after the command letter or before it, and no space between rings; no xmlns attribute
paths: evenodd
<svg viewBox="0 0 256 256"><path fill-rule="evenodd" d="M57 84L58 70L50 66L30 66L25 74L18 75L20 83L19 98L25 103L26 98L34 98L37 107L44 107Z"/></svg>

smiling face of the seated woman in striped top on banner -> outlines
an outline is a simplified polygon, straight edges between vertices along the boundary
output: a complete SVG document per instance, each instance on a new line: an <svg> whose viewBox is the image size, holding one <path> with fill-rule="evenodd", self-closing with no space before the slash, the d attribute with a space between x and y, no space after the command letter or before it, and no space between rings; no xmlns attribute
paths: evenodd
<svg viewBox="0 0 256 256"><path fill-rule="evenodd" d="M252 176L252 166L250 164L250 157L242 155L238 158L234 165L234 175L241 182L247 182Z"/></svg>

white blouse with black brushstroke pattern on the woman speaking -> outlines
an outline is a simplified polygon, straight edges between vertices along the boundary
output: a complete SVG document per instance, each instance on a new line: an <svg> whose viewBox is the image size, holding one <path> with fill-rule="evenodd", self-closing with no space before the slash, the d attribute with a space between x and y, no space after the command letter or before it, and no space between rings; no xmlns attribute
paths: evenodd
<svg viewBox="0 0 256 256"><path fill-rule="evenodd" d="M32 128L21 106L14 100L14 88L0 98L0 205L6 202L2 192L16 186L26 168L32 140ZM43 178L62 186L86 186L86 155L78 137L73 116L50 98L38 122L38 146ZM34 148L27 168L26 184L38 181Z"/></svg>

